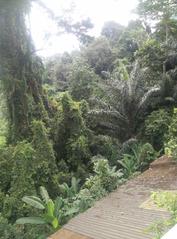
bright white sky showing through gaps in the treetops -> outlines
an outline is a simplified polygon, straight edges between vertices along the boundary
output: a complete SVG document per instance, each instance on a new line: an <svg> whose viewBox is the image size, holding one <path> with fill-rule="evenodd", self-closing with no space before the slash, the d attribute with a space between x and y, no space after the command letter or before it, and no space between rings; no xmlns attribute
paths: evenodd
<svg viewBox="0 0 177 239"><path fill-rule="evenodd" d="M131 19L136 19L132 10L136 8L137 0L43 0L43 2L56 15L61 15L62 9L67 9L74 3L73 18L79 20L89 17L94 24L92 33L95 36L100 34L106 21L113 20L127 25ZM30 28L36 49L41 56L48 57L79 48L76 37L70 34L57 36L56 23L37 4L32 6Z"/></svg>

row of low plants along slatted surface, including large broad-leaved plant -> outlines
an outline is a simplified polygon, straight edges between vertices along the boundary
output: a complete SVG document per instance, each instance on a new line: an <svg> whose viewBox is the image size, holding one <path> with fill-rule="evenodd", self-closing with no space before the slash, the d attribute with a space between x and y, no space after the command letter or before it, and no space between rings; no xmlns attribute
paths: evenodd
<svg viewBox="0 0 177 239"><path fill-rule="evenodd" d="M82 189L79 187L80 180L72 178L71 186L66 183L59 186L61 195L51 200L47 191L42 188L42 198L36 196L23 197L23 201L35 207L45 210L41 217L26 217L17 220L19 224L44 224L48 223L53 228L66 223L74 215L85 211L93 205L95 200L105 196L108 192L116 189L122 183L122 174L111 168L104 158L94 158L94 176L90 176Z"/></svg>

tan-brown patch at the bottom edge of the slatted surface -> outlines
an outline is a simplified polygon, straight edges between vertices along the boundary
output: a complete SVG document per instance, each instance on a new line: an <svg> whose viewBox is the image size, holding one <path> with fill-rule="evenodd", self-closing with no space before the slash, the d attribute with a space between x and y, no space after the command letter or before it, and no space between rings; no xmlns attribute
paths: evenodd
<svg viewBox="0 0 177 239"><path fill-rule="evenodd" d="M52 236L48 237L48 239L91 239L91 238L73 232L71 230L61 229Z"/></svg>

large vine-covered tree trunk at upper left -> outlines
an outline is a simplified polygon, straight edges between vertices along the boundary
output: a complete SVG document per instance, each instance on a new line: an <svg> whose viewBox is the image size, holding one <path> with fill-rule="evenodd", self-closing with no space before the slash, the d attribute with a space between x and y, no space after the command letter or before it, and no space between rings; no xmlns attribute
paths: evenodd
<svg viewBox="0 0 177 239"><path fill-rule="evenodd" d="M0 2L0 79L9 112L9 139L29 135L32 118L47 117L42 100L42 63L25 24L28 0Z"/></svg>

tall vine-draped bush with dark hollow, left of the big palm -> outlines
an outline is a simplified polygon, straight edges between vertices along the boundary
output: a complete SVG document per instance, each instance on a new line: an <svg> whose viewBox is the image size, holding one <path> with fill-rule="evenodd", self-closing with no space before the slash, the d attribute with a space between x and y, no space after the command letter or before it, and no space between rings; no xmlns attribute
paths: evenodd
<svg viewBox="0 0 177 239"><path fill-rule="evenodd" d="M68 171L84 181L91 158L89 133L83 118L86 105L73 101L68 93L63 93L58 107L52 128L57 164L63 160Z"/></svg>

